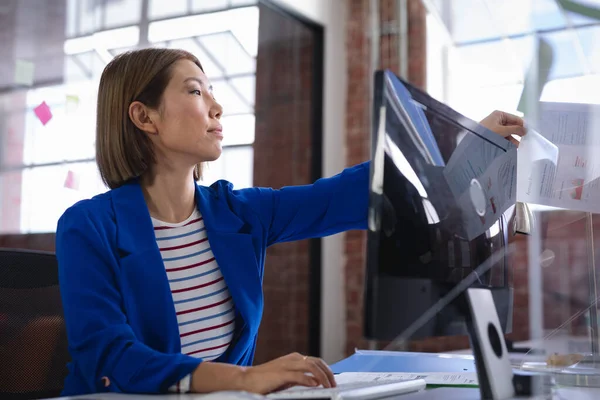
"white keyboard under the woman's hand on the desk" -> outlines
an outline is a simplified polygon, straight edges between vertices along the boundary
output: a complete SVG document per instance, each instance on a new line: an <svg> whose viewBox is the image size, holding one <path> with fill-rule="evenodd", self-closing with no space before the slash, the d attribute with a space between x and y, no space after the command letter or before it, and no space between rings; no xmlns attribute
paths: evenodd
<svg viewBox="0 0 600 400"><path fill-rule="evenodd" d="M372 400L425 389L423 379L342 383L335 388L295 386L267 395L269 399Z"/></svg>

